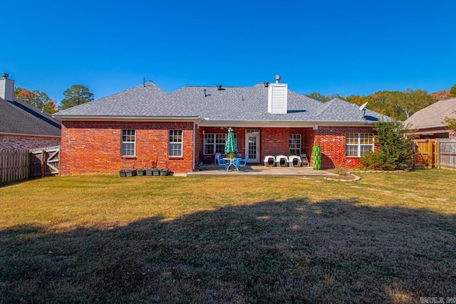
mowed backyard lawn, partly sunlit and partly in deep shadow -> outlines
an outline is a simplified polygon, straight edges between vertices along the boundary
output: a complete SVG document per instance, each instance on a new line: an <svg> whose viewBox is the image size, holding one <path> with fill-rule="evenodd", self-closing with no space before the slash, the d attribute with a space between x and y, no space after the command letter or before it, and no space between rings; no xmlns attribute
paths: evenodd
<svg viewBox="0 0 456 304"><path fill-rule="evenodd" d="M456 296L456 171L50 177L0 188L0 303Z"/></svg>

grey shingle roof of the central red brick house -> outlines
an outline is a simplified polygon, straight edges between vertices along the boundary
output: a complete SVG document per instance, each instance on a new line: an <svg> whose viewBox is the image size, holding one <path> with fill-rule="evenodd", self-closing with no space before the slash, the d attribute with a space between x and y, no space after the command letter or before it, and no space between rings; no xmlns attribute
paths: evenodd
<svg viewBox="0 0 456 304"><path fill-rule="evenodd" d="M203 122L337 122L366 124L384 117L377 112L359 110L334 98L321 103L288 90L286 114L268 112L268 88L186 86L165 93L155 83L138 85L123 92L56 113L62 119L199 119ZM388 118L388 117L386 117Z"/></svg>

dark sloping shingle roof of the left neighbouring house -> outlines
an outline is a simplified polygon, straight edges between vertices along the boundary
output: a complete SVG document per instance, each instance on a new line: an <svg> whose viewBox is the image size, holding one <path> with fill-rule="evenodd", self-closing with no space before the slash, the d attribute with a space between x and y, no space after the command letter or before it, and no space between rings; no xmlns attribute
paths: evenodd
<svg viewBox="0 0 456 304"><path fill-rule="evenodd" d="M21 100L0 98L0 134L61 136L61 122Z"/></svg>

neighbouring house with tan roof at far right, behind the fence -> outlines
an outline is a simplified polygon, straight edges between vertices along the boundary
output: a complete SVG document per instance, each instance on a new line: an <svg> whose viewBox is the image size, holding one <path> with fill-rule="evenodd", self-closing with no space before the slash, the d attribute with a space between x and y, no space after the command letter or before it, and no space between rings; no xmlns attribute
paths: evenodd
<svg viewBox="0 0 456 304"><path fill-rule="evenodd" d="M456 138L456 130L448 129L444 123L445 117L456 119L456 98L428 105L408 117L404 125L415 129L415 138L418 139Z"/></svg>

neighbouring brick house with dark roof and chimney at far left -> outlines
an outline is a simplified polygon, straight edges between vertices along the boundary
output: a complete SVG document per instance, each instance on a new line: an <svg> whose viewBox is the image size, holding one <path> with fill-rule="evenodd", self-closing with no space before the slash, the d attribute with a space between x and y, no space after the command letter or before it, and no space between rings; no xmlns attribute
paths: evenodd
<svg viewBox="0 0 456 304"><path fill-rule="evenodd" d="M0 78L0 150L30 150L60 145L61 122L14 98L14 80Z"/></svg>

